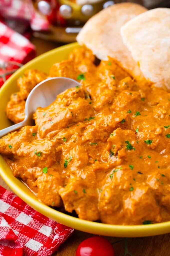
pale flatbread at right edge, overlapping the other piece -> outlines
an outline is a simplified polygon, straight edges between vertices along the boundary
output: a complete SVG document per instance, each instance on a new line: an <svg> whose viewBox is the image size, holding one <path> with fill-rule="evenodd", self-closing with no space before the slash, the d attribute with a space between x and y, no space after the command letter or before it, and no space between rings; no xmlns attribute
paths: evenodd
<svg viewBox="0 0 170 256"><path fill-rule="evenodd" d="M140 14L122 27L121 34L145 78L170 89L170 9Z"/></svg>

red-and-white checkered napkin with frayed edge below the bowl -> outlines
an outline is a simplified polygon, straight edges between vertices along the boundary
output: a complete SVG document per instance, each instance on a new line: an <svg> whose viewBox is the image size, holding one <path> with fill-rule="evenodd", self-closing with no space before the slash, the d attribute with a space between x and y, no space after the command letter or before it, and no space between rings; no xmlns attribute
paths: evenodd
<svg viewBox="0 0 170 256"><path fill-rule="evenodd" d="M49 256L72 232L0 186L0 256Z"/></svg>

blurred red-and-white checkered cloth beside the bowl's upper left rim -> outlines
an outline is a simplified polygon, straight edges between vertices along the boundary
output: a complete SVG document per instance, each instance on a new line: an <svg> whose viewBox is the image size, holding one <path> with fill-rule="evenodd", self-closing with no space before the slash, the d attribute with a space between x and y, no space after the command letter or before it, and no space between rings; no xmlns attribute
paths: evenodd
<svg viewBox="0 0 170 256"><path fill-rule="evenodd" d="M35 46L31 42L0 22L0 75L19 68L9 61L25 64L35 57ZM0 77L0 87L9 77Z"/></svg>

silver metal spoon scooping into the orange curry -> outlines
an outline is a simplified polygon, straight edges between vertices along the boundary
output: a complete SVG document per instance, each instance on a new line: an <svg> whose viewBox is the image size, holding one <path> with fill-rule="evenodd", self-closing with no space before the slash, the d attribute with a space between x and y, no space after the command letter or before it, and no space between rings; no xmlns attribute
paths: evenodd
<svg viewBox="0 0 170 256"><path fill-rule="evenodd" d="M2 129L0 131L0 138L22 126L32 125L32 117L38 107L45 108L56 99L58 94L75 86L80 86L80 83L67 77L52 77L38 83L26 100L25 119L18 124Z"/></svg>

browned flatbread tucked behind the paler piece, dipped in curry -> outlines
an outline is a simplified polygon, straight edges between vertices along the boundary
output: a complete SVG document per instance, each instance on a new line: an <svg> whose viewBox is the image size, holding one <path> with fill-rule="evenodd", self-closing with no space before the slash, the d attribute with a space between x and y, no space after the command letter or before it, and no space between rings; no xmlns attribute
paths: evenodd
<svg viewBox="0 0 170 256"><path fill-rule="evenodd" d="M91 49L97 58L107 60L108 56L112 57L133 77L143 78L142 72L123 44L120 28L146 10L134 3L112 5L88 20L78 34L77 41Z"/></svg>

